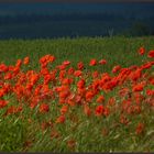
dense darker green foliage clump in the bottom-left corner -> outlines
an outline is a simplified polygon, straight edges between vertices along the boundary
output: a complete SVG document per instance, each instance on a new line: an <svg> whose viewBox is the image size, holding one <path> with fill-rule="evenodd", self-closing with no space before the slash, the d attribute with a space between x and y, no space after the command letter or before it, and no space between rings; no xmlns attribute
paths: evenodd
<svg viewBox="0 0 154 154"><path fill-rule="evenodd" d="M18 117L0 119L0 151L20 152L26 135L26 125Z"/></svg>

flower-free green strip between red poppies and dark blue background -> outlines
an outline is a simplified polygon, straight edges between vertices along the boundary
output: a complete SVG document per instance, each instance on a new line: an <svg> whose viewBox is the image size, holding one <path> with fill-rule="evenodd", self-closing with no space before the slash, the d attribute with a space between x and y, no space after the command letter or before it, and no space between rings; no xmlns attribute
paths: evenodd
<svg viewBox="0 0 154 154"><path fill-rule="evenodd" d="M57 40L10 40L0 41L0 61L6 64L14 64L18 58L30 56L32 66L37 67L38 58L45 54L53 54L56 61L53 65L68 59L73 66L82 61L88 66L91 58L106 58L106 67L96 66L99 70L107 72L120 64L123 67L140 65L143 58L136 56L136 50L141 46L154 48L154 36L148 37L79 37Z"/></svg>

